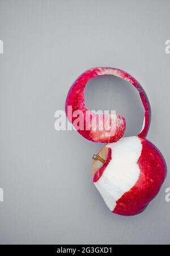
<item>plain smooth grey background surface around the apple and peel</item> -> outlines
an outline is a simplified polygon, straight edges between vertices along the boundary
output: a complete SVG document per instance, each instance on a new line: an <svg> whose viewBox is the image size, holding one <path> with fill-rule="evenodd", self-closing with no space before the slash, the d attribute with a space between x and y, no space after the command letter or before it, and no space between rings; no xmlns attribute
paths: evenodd
<svg viewBox="0 0 170 256"><path fill-rule="evenodd" d="M102 144L54 130L70 85L86 69L124 69L141 82L152 107L147 138L169 166L168 0L0 1L1 243L169 243L170 203L163 187L145 212L109 212L91 180ZM137 92L97 77L86 87L90 109L116 109L126 136L142 127Z"/></svg>

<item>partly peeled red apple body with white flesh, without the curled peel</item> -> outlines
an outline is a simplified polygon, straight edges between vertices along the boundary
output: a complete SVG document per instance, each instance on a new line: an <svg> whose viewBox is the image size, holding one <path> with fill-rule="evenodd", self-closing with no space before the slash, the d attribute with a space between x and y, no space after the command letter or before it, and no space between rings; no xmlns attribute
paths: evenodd
<svg viewBox="0 0 170 256"><path fill-rule="evenodd" d="M106 161L102 166L94 161L92 176L109 209L124 216L145 210L166 176L167 167L158 148L134 136L107 144L99 155Z"/></svg>

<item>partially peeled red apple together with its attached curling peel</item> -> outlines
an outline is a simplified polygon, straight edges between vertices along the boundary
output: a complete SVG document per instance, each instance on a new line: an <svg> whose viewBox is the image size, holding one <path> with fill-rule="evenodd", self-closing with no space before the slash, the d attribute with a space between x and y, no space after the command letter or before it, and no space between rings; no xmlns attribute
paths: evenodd
<svg viewBox="0 0 170 256"><path fill-rule="evenodd" d="M92 126L88 130L78 130L84 138L100 143L107 143L94 154L92 179L108 208L125 216L141 213L148 203L158 194L166 176L167 167L158 148L145 138L150 126L151 110L145 91L134 77L116 68L93 68L84 72L71 86L66 99L66 115L74 125L75 116L67 113L67 107L73 111L81 110L84 123L87 121L84 103L84 88L92 77L113 75L129 81L139 92L145 118L141 132L137 136L124 137L126 122L121 115L116 115L114 134L112 129L105 136L105 130ZM94 114L91 113L91 117ZM108 127L107 127L108 128ZM106 129L108 131L108 129Z"/></svg>

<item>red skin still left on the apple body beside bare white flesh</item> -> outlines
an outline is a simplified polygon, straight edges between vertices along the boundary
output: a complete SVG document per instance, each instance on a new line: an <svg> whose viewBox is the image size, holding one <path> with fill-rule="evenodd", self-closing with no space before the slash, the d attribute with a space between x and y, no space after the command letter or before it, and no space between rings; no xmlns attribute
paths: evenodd
<svg viewBox="0 0 170 256"><path fill-rule="evenodd" d="M158 194L167 174L167 166L161 152L145 138L141 138L142 152L138 159L140 174L137 183L116 201L113 213L132 216L145 210L148 203ZM108 165L111 153L108 154ZM105 166L106 167L106 166ZM105 167L95 173L93 181L96 182L103 174Z"/></svg>

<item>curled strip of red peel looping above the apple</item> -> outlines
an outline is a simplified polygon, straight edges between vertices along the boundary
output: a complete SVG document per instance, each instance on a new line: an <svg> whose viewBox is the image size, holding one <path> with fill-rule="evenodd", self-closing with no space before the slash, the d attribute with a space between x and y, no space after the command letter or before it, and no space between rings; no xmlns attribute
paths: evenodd
<svg viewBox="0 0 170 256"><path fill-rule="evenodd" d="M125 71L117 68L92 68L84 72L78 77L78 79L76 79L74 84L71 86L69 93L67 94L65 104L65 111L69 122L73 123L73 126L79 134L93 142L116 142L124 135L126 129L126 122L125 118L121 117L121 115L116 114L116 117L114 119L109 115L97 115L92 112L90 112L90 115L86 115L88 109L86 108L84 103L84 88L90 79L102 75L113 75L120 77L121 79L129 81L133 86L135 86L135 88L137 88L143 106L145 108L145 120L143 123L143 129L138 136L145 137L150 126L150 104L148 102L146 93L143 90L142 86L139 84L139 82L134 79L134 77L132 77ZM71 111L68 108L69 106L71 106L72 108ZM78 127L75 126L75 121L78 117L78 115L76 115L75 113L78 112L82 113L81 118L83 119L83 129L78 129ZM107 125L104 126L104 129L100 129L99 123L97 123L95 129L93 129L91 120L95 118L106 118L108 120ZM88 129L86 127L87 123Z"/></svg>

